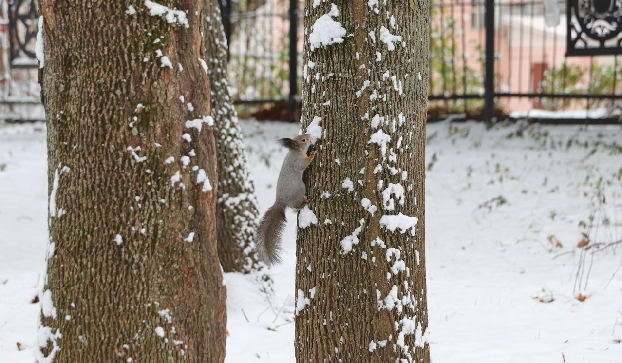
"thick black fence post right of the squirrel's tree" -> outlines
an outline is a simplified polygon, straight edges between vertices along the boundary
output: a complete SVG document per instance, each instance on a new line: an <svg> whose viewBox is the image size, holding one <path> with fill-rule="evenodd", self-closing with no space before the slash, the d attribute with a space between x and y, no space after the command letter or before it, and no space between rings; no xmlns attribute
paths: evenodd
<svg viewBox="0 0 622 363"><path fill-rule="evenodd" d="M494 116L494 0L486 0L486 72L484 75L484 120Z"/></svg>

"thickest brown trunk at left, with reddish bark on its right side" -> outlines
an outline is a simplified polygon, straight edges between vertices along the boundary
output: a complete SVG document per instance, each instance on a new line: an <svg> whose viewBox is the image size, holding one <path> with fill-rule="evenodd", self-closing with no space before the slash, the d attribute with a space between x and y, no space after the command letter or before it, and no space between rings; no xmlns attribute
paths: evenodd
<svg viewBox="0 0 622 363"><path fill-rule="evenodd" d="M39 362L224 361L201 1L159 3L39 1L50 188Z"/></svg>

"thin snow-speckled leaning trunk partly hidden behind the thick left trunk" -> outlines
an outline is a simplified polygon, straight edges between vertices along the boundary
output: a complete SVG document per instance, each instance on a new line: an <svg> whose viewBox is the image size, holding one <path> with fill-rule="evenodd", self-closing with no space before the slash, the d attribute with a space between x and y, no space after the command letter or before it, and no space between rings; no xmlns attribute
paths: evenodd
<svg viewBox="0 0 622 363"><path fill-rule="evenodd" d="M226 272L249 273L262 266L253 250L259 207L248 172L238 114L228 88L227 43L218 0L203 0L203 14L203 47L212 82L211 108L218 154L218 256Z"/></svg>

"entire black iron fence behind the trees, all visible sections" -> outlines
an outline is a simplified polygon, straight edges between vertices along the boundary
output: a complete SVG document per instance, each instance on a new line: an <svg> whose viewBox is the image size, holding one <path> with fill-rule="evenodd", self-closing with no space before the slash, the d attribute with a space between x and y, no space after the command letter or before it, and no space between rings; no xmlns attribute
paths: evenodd
<svg viewBox="0 0 622 363"><path fill-rule="evenodd" d="M234 100L283 101L294 115L302 73L302 1L219 2ZM0 0L0 105L34 102L34 4ZM429 116L618 121L621 51L620 0L432 0ZM27 92L16 87L21 78L28 80Z"/></svg>

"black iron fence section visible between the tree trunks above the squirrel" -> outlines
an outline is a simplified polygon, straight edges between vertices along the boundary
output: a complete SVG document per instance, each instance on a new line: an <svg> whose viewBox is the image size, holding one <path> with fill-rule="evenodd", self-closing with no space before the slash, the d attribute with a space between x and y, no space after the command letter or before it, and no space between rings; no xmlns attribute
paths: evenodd
<svg viewBox="0 0 622 363"><path fill-rule="evenodd" d="M299 100L302 27L299 0L218 0L229 44L234 102L289 104ZM299 4L300 2L300 4Z"/></svg>

